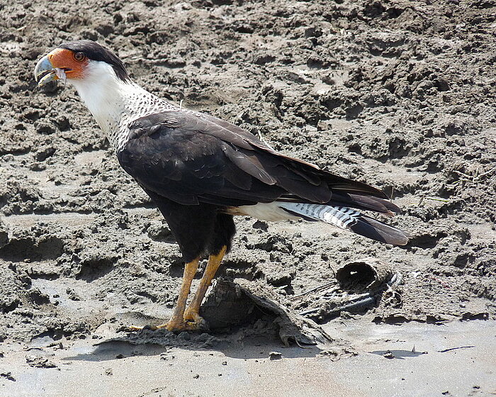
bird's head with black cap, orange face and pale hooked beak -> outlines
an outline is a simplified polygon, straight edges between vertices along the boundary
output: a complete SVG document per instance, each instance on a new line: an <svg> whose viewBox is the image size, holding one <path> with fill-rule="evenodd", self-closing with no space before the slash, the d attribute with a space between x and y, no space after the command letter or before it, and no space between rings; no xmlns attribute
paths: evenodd
<svg viewBox="0 0 496 397"><path fill-rule="evenodd" d="M123 62L113 52L94 41L77 40L62 43L41 58L35 67L35 80L38 86L58 79L77 85L103 74L108 76L109 72L123 82L130 79Z"/></svg>

